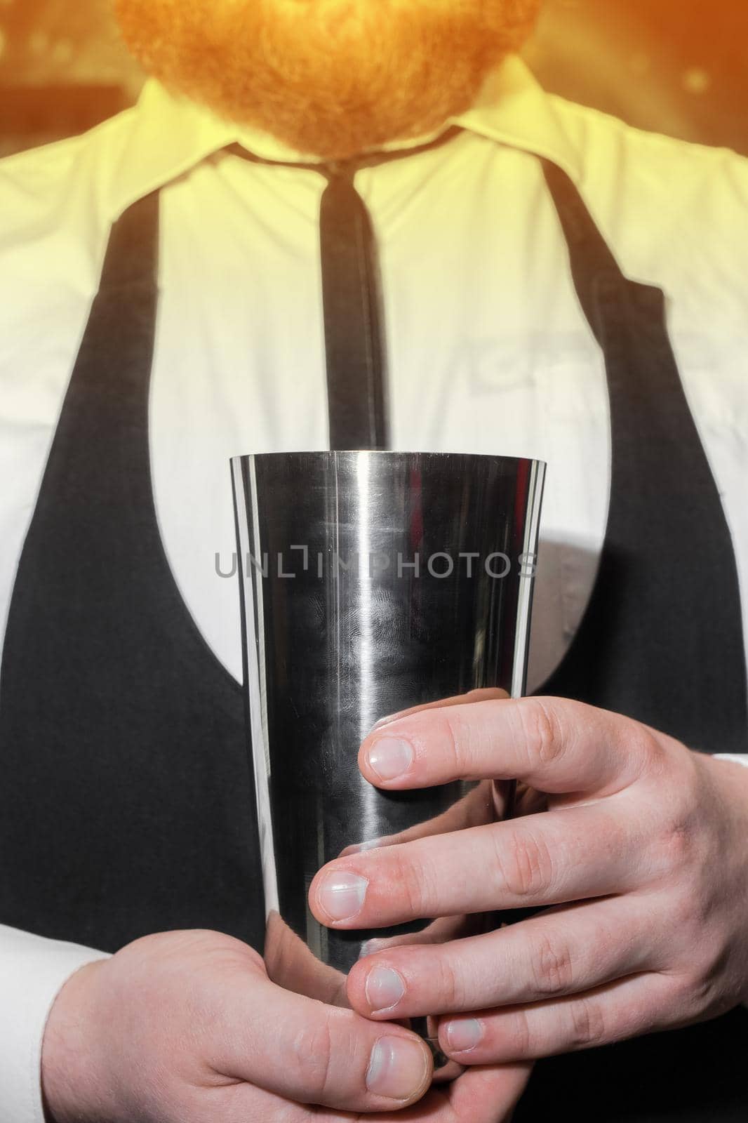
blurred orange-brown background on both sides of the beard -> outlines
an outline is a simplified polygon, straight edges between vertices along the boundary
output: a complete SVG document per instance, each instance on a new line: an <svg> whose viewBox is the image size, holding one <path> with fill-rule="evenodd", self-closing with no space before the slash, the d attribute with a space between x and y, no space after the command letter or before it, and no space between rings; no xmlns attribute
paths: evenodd
<svg viewBox="0 0 748 1123"><path fill-rule="evenodd" d="M0 0L0 155L138 95L111 0ZM527 60L548 90L748 155L748 0L546 0Z"/></svg>

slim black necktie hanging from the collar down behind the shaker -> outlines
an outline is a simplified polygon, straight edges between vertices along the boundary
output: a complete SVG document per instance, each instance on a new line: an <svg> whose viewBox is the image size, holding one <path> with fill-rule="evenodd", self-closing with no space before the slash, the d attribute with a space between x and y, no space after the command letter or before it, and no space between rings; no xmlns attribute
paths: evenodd
<svg viewBox="0 0 748 1123"><path fill-rule="evenodd" d="M458 133L454 126L414 148L323 164L263 159L238 144L228 148L254 164L301 167L327 179L320 204L320 256L331 449L389 447L386 339L376 238L355 188L356 172L437 148Z"/></svg>

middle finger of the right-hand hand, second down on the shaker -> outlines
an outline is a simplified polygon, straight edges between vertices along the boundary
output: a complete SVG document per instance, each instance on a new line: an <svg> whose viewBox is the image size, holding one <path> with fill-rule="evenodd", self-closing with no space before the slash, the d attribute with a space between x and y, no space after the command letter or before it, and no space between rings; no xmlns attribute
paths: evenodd
<svg viewBox="0 0 748 1123"><path fill-rule="evenodd" d="M309 905L346 929L564 904L635 887L644 860L628 820L594 803L339 858Z"/></svg>

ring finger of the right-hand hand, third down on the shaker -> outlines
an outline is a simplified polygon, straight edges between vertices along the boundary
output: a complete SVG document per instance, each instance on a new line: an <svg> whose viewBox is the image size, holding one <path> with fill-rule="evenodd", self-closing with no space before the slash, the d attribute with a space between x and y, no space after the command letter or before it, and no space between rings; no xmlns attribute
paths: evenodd
<svg viewBox="0 0 748 1123"><path fill-rule="evenodd" d="M389 948L354 966L348 999L366 1017L400 1019L581 994L658 966L649 929L644 901L611 897L489 935Z"/></svg>

